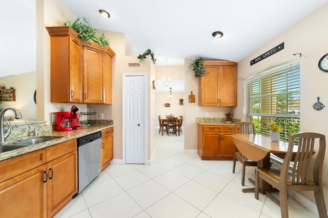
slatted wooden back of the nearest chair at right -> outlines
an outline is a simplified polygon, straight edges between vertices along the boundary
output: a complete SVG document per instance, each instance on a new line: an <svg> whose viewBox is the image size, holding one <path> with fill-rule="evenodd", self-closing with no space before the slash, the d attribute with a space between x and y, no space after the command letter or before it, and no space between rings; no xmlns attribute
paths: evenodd
<svg viewBox="0 0 328 218"><path fill-rule="evenodd" d="M295 145L296 138L299 138L298 146ZM325 136L319 133L296 133L290 136L288 152L286 153L281 166L280 176L282 182L287 182L290 162L294 157L294 165L292 168L292 184L309 185L311 159L317 138L319 138L319 151L317 152L315 165L313 168L313 175L315 175L313 181L315 183L320 181L319 178L315 177L321 177L322 174L323 158L325 152ZM295 146L297 146L298 149L297 153L293 155L293 149Z"/></svg>

